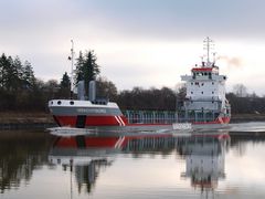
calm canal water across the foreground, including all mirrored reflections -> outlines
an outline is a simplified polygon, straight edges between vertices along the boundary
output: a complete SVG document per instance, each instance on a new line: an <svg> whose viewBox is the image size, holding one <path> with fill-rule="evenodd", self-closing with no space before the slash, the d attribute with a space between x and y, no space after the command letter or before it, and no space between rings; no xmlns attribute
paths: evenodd
<svg viewBox="0 0 265 199"><path fill-rule="evenodd" d="M265 198L265 137L0 132L1 198Z"/></svg>

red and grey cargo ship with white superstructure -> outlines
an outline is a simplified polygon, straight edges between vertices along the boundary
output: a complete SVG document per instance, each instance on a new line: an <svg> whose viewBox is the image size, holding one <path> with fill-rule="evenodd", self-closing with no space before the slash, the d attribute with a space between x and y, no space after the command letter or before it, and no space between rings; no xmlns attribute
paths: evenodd
<svg viewBox="0 0 265 199"><path fill-rule="evenodd" d="M102 126L172 128L172 124L189 123L204 127L229 124L231 107L225 98L226 76L219 74L215 59L210 60L212 40L206 38L204 42L206 61L192 67L190 75L181 76L186 83L187 94L184 98L177 100L174 112L121 112L115 102L96 97L95 82L89 83L88 100L82 96L78 100L52 100L49 102L50 112L59 126L76 128ZM71 80L73 82L73 77Z"/></svg>

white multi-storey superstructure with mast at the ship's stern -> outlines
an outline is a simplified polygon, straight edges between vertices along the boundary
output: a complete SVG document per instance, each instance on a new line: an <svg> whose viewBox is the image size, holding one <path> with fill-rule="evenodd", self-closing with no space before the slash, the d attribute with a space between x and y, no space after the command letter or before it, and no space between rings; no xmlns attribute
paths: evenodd
<svg viewBox="0 0 265 199"><path fill-rule="evenodd" d="M212 40L206 38L208 57L201 65L191 69L190 75L182 75L186 82L187 95L182 103L180 118L192 122L230 121L230 105L225 98L225 75L219 74L215 61L210 61L209 51ZM184 113L183 113L184 111ZM221 123L222 123L221 122Z"/></svg>

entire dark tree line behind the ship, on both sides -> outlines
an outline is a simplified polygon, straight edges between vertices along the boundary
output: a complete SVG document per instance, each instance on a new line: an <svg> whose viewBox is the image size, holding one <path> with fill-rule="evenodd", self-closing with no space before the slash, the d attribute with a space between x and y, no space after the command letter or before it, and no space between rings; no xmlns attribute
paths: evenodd
<svg viewBox="0 0 265 199"><path fill-rule="evenodd" d="M186 88L170 87L118 91L116 85L100 76L100 67L96 63L94 51L82 51L76 59L74 84L85 82L85 94L88 95L88 82L97 82L97 96L117 102L121 109L157 109L174 111L177 98L186 95ZM47 102L52 98L70 98L71 80L65 72L61 80L41 81L35 77L30 62L22 62L19 56L0 56L0 111L36 111L49 112ZM76 98L76 95L73 96ZM247 94L244 85L235 85L235 90L226 94L232 106L232 114L265 113L265 97Z"/></svg>

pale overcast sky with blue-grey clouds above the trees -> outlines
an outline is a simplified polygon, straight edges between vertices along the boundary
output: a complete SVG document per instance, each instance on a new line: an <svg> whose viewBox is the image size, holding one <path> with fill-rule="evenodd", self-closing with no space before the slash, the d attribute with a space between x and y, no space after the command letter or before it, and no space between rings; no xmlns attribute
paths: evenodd
<svg viewBox="0 0 265 199"><path fill-rule="evenodd" d="M70 72L71 40L119 90L174 87L214 40L227 91L265 95L264 0L0 0L0 52L44 81Z"/></svg>

